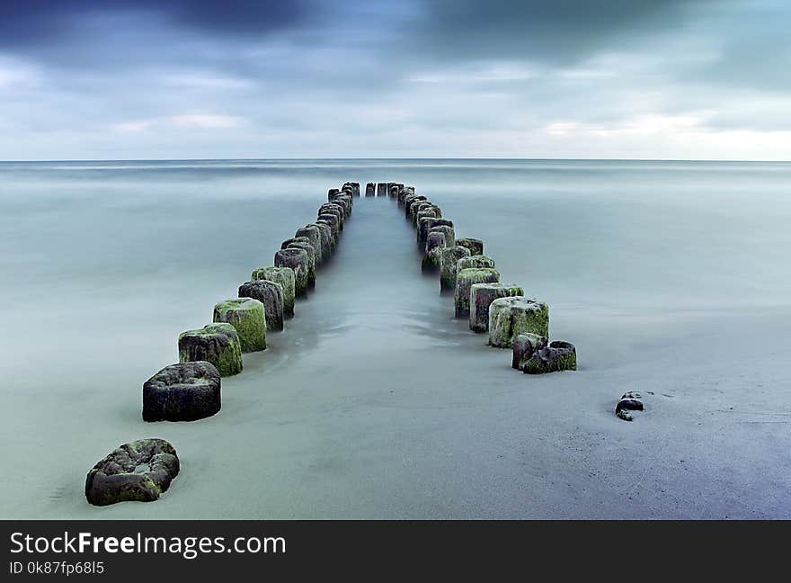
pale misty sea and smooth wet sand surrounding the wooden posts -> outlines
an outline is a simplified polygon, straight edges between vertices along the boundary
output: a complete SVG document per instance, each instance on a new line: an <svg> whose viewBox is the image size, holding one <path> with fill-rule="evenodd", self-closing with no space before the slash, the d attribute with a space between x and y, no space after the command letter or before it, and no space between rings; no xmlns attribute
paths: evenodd
<svg viewBox="0 0 791 583"><path fill-rule="evenodd" d="M579 371L513 371L396 202L361 197L218 415L144 423L178 334L345 181L413 184L483 239ZM0 184L2 518L791 518L789 163L0 163ZM90 507L93 463L148 436L181 457L172 489Z"/></svg>

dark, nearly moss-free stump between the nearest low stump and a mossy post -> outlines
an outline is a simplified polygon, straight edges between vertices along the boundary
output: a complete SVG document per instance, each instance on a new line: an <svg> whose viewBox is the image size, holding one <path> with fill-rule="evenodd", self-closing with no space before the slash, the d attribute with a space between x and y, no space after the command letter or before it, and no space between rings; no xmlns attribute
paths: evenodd
<svg viewBox="0 0 791 583"><path fill-rule="evenodd" d="M165 366L143 383L144 421L194 421L219 408L219 371L206 361Z"/></svg>

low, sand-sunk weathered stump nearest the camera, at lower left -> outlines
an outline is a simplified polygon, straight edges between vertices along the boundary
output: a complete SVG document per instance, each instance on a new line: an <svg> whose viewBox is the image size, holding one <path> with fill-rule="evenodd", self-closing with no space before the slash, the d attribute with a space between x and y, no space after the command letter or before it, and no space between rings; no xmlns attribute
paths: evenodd
<svg viewBox="0 0 791 583"><path fill-rule="evenodd" d="M179 473L179 457L164 439L122 444L96 463L85 479L85 498L93 506L153 502Z"/></svg>

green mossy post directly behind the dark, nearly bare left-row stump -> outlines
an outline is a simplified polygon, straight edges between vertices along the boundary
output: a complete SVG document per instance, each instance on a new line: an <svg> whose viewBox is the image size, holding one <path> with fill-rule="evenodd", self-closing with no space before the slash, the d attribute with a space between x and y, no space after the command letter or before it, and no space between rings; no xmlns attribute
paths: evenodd
<svg viewBox="0 0 791 583"><path fill-rule="evenodd" d="M207 324L179 335L179 362L208 361L220 376L242 372L242 345L232 324Z"/></svg>

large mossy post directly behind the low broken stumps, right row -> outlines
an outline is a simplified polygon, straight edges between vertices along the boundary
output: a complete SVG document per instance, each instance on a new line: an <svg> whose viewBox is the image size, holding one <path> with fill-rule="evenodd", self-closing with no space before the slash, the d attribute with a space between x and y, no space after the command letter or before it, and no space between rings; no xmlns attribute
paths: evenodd
<svg viewBox="0 0 791 583"><path fill-rule="evenodd" d="M489 305L489 345L511 348L520 334L549 336L549 306L523 296L494 300Z"/></svg>

